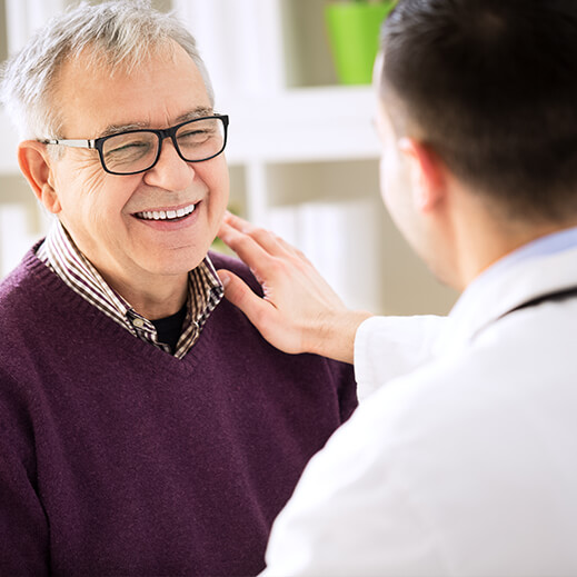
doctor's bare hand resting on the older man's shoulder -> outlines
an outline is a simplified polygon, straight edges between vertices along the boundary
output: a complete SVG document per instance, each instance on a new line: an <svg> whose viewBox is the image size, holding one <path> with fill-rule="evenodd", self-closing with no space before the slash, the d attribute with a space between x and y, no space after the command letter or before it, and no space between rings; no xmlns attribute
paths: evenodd
<svg viewBox="0 0 577 577"><path fill-rule="evenodd" d="M225 296L278 349L352 362L355 334L371 315L347 309L296 248L273 233L227 213L220 239L237 252L262 286L256 295L229 270L218 270Z"/></svg>

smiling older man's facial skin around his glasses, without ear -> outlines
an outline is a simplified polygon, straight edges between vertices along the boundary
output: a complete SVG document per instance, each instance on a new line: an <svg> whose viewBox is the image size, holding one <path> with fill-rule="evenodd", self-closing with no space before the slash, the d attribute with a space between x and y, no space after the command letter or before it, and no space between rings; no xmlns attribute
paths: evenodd
<svg viewBox="0 0 577 577"><path fill-rule="evenodd" d="M200 72L179 46L173 58L153 56L130 74L88 69L80 57L58 80L64 138L93 139L111 127L167 128L195 111L211 113ZM205 258L228 202L225 156L188 163L170 139L158 163L140 175L109 175L97 151L67 149L51 162L49 178L58 198L53 210L113 287L186 278ZM183 218L147 218L192 206Z"/></svg>

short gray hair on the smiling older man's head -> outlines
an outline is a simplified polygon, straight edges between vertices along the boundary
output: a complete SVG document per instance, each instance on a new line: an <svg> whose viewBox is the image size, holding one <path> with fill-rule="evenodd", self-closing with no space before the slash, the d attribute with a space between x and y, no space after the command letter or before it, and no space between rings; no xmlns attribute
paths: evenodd
<svg viewBox="0 0 577 577"><path fill-rule="evenodd" d="M61 110L51 102L58 73L87 48L91 64L130 71L173 40L198 67L211 106L212 84L192 34L171 13L150 0L112 0L77 7L52 18L0 71L0 101L23 139L62 138ZM169 52L170 53L170 52Z"/></svg>

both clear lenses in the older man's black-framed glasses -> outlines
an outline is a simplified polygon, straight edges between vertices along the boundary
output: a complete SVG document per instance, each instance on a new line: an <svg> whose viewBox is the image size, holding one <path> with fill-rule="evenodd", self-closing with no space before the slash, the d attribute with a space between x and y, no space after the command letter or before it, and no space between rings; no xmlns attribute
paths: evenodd
<svg viewBox="0 0 577 577"><path fill-rule="evenodd" d="M225 125L219 118L192 120L177 130L176 140L185 160L207 160L222 151ZM158 135L147 130L113 135L102 145L102 160L111 172L138 172L155 165L160 146Z"/></svg>

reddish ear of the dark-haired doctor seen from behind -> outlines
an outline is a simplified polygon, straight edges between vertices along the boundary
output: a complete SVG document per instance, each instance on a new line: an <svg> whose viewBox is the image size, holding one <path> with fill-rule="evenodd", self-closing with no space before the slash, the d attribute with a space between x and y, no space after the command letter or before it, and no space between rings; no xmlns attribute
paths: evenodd
<svg viewBox="0 0 577 577"><path fill-rule="evenodd" d="M446 167L422 142L401 138L399 150L409 165L415 206L421 211L434 209L445 198Z"/></svg>

